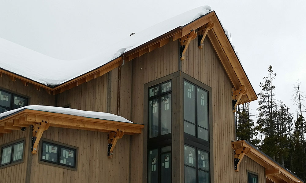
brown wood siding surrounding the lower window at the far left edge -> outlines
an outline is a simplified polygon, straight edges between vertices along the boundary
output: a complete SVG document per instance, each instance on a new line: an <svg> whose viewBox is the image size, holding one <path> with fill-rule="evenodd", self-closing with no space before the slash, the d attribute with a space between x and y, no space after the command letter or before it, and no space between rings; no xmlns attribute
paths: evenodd
<svg viewBox="0 0 306 183"><path fill-rule="evenodd" d="M26 131L13 130L10 134L4 134L0 137L0 145L13 142L15 140L26 137L25 139L25 151L24 151L24 162L13 166L0 169L0 183L15 183L15 182L25 182L27 174L27 164L28 164L28 154L29 154L29 129ZM0 149L1 152L1 149Z"/></svg>

